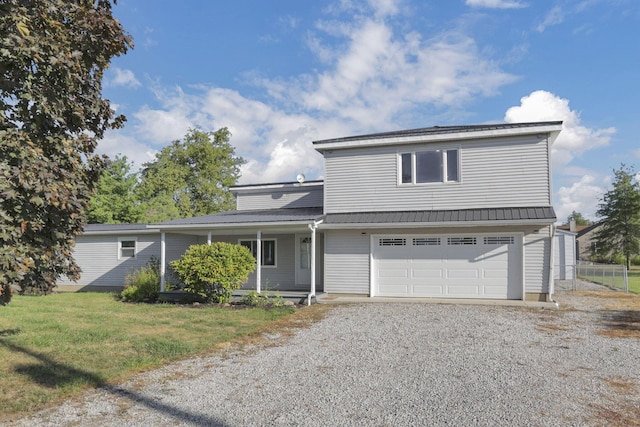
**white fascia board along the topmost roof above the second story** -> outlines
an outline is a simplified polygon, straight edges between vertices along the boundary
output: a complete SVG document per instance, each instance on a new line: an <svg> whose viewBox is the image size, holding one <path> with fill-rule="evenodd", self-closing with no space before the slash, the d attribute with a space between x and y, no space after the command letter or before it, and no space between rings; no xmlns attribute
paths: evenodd
<svg viewBox="0 0 640 427"><path fill-rule="evenodd" d="M375 139L362 139L355 141L336 141L326 142L314 147L317 151L323 152L327 150L343 149L343 148L360 148L360 147L374 147L381 145L402 145L402 144L417 144L424 142L447 142L447 141L461 141L468 139L485 139L485 138L499 138L507 136L522 136L522 135L536 135L536 134L549 134L550 139L555 140L558 133L562 130L562 125L543 125L532 126L523 128L510 128L510 129L490 129L474 132L456 132L448 134L436 134L436 135L413 135L413 136L399 136L391 138L375 138Z"/></svg>

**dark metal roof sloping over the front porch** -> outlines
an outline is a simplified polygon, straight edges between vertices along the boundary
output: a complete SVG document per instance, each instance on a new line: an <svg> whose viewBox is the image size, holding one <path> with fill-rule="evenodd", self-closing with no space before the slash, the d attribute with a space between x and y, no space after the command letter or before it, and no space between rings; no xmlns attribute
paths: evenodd
<svg viewBox="0 0 640 427"><path fill-rule="evenodd" d="M150 224L152 228L202 228L216 226L252 226L258 224L288 225L317 221L323 216L322 207L282 208L227 211L193 218Z"/></svg>

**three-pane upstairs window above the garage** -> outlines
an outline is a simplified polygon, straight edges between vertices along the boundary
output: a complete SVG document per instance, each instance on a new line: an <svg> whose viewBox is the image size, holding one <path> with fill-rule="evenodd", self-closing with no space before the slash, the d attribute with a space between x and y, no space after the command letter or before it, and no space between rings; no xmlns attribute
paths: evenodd
<svg viewBox="0 0 640 427"><path fill-rule="evenodd" d="M458 182L458 150L431 150L400 153L400 184Z"/></svg>

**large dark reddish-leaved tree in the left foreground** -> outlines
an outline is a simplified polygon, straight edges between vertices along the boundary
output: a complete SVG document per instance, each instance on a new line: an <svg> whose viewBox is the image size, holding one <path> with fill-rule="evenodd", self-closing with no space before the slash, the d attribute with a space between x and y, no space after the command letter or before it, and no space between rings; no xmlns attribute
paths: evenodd
<svg viewBox="0 0 640 427"><path fill-rule="evenodd" d="M131 46L111 0L0 0L0 285L78 277L94 150L124 123L101 81Z"/></svg>

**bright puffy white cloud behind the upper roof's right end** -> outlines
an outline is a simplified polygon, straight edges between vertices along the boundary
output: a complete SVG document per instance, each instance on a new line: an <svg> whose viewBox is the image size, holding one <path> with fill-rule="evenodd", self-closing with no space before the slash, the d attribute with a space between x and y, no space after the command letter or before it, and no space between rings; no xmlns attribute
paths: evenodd
<svg viewBox="0 0 640 427"><path fill-rule="evenodd" d="M609 144L615 128L592 129L581 124L580 114L569 107L569 101L551 92L538 90L520 99L504 116L507 123L562 120L562 132L553 144L551 158L555 173L587 150Z"/></svg>

